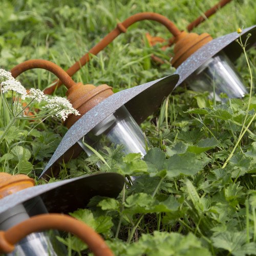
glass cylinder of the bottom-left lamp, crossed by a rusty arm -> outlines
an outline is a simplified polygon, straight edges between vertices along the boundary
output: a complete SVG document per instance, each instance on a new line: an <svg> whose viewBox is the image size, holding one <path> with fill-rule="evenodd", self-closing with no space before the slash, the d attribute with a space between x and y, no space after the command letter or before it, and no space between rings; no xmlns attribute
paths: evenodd
<svg viewBox="0 0 256 256"><path fill-rule="evenodd" d="M7 230L16 224L29 219L27 209L23 204L18 204L13 208L0 214L0 230ZM11 253L6 255L14 256L48 256L66 255L67 251L59 242L55 242L57 232L34 232L15 244Z"/></svg>

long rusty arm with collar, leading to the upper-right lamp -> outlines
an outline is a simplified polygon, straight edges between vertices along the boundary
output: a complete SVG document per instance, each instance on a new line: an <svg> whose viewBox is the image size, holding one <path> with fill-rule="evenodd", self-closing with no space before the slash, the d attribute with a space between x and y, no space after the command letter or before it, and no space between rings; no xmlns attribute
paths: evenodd
<svg viewBox="0 0 256 256"><path fill-rule="evenodd" d="M90 60L90 54L97 55L101 50L108 46L118 35L120 35L121 33L125 33L126 29L129 28L131 25L145 19L155 20L156 22L163 24L169 30L169 32L174 35L174 37L176 37L180 33L180 30L174 25L174 23L172 23L168 18L161 14L154 12L137 13L125 19L124 22L118 23L117 27L114 30L112 30L101 41L99 41L97 45L95 45L88 53L83 55L66 72L70 76L73 76L82 66L86 65L86 63ZM58 80L56 80L55 82L56 84L54 84L52 87L44 90L45 94L52 94L55 88L61 86L62 84L61 81Z"/></svg>

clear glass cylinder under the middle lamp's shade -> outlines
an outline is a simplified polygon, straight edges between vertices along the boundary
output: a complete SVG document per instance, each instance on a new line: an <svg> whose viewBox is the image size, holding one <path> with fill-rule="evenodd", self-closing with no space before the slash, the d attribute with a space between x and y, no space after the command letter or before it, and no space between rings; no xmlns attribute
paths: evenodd
<svg viewBox="0 0 256 256"><path fill-rule="evenodd" d="M111 144L122 145L123 152L146 154L146 144L150 146L140 126L136 123L125 106L121 106L110 116L97 124L94 129L81 138L78 143L88 156L93 152L83 143L90 145L95 150Z"/></svg>

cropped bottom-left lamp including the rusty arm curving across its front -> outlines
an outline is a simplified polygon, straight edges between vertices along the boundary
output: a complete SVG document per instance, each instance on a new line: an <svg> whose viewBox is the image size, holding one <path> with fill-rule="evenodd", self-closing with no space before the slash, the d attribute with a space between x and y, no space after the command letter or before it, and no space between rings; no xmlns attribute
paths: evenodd
<svg viewBox="0 0 256 256"><path fill-rule="evenodd" d="M84 208L94 196L117 197L123 184L123 177L114 173L98 173L38 186L34 186L34 180L26 175L0 173L0 230L4 230L0 231L0 252L12 251L17 243L12 255L60 255L60 244L55 246L48 234L41 232L50 228L73 232L96 252L97 246L104 241L92 229L71 217L49 212L68 213ZM91 239L95 236L96 244L93 245ZM103 248L109 251L108 247Z"/></svg>

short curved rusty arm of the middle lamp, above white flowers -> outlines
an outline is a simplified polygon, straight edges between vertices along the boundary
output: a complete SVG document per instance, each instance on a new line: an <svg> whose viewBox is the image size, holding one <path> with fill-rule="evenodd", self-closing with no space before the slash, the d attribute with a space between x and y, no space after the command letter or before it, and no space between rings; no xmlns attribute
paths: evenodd
<svg viewBox="0 0 256 256"><path fill-rule="evenodd" d="M14 67L11 70L12 76L16 78L18 75L22 74L23 72L30 70L30 69L46 69L56 75L63 84L69 89L74 86L76 83L72 80L72 78L67 74L67 72L61 69L55 63L44 60L44 59L31 59L24 61Z"/></svg>

